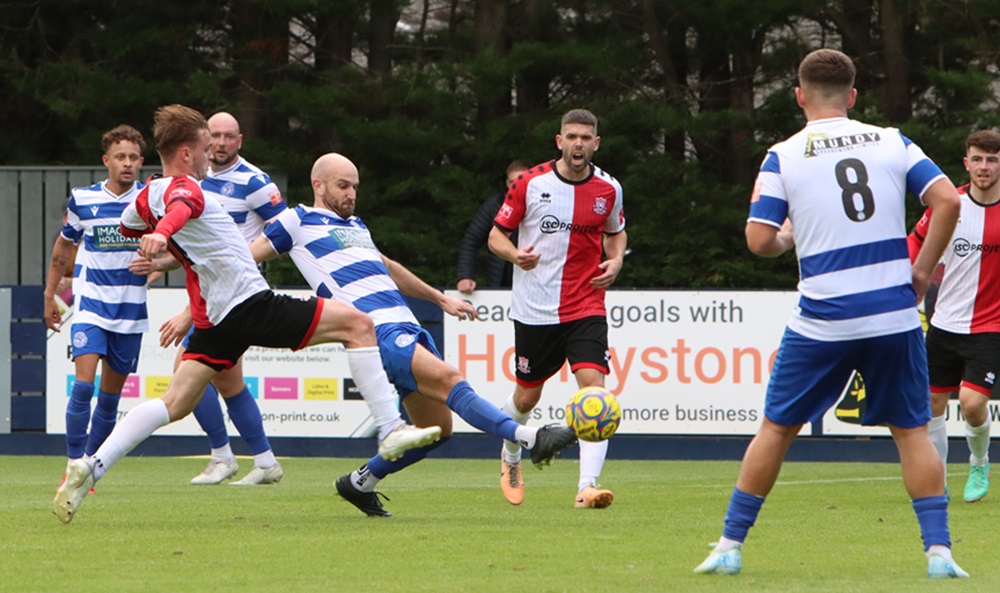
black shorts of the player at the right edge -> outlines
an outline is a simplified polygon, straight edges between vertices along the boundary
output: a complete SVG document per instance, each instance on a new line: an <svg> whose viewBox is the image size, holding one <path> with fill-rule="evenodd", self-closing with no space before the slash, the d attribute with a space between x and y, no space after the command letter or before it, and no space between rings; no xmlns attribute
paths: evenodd
<svg viewBox="0 0 1000 593"><path fill-rule="evenodd" d="M953 334L932 325L927 331L927 369L933 392L968 387L992 396L1000 373L1000 333Z"/></svg>

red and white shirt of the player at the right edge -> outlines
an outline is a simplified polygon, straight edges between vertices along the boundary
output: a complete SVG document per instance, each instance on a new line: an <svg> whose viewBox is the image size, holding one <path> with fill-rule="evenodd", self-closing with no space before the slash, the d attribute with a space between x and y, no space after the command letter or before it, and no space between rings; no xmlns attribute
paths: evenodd
<svg viewBox="0 0 1000 593"><path fill-rule="evenodd" d="M962 210L944 253L944 278L931 325L956 334L1000 332L1000 202L980 204L958 188ZM909 236L910 258L923 245L931 208Z"/></svg>

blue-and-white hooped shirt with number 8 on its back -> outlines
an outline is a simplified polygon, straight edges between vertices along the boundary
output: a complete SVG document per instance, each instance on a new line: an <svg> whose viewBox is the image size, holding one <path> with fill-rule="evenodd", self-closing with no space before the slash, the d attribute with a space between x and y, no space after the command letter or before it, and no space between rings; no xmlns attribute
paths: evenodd
<svg viewBox="0 0 1000 593"><path fill-rule="evenodd" d="M848 118L809 122L771 147L749 221L792 222L801 298L789 329L839 341L920 327L904 202L943 176L899 130Z"/></svg>

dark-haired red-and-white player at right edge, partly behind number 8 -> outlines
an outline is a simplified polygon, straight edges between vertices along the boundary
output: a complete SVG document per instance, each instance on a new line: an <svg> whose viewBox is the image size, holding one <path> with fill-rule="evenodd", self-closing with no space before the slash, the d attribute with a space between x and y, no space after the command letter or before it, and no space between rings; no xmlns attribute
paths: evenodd
<svg viewBox="0 0 1000 593"><path fill-rule="evenodd" d="M958 394L969 444L964 499L986 496L990 477L990 410L1000 373L1000 134L979 130L965 142L970 183L958 188L962 213L944 254L944 278L927 332L931 440L948 458L945 411ZM911 259L930 224L930 209L908 237Z"/></svg>

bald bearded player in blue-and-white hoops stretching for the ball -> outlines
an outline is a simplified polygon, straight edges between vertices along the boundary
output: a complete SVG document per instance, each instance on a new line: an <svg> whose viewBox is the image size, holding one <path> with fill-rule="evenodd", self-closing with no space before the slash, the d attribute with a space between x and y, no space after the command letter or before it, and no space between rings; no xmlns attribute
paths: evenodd
<svg viewBox="0 0 1000 593"><path fill-rule="evenodd" d="M476 393L446 363L434 339L420 327L403 295L431 301L455 317L475 318L469 303L428 285L376 247L368 228L354 216L358 169L348 158L321 156L311 174L313 207L278 215L250 245L257 261L289 253L316 294L347 303L375 323L382 366L416 426L440 426L441 440L407 451L396 460L378 455L337 479L337 493L369 516L391 517L375 492L378 482L420 461L451 435L451 412L479 430L519 443L536 467L576 441L568 426L522 426Z"/></svg>

